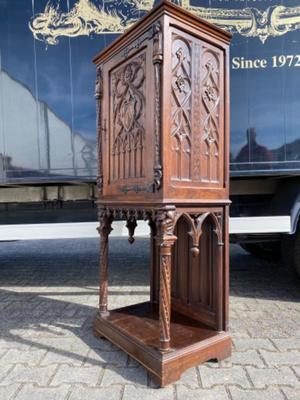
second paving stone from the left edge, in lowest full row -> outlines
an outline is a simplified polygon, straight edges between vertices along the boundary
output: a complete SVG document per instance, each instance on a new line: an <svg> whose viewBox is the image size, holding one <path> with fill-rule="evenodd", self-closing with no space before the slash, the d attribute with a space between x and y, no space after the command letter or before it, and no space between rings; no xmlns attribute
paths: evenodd
<svg viewBox="0 0 300 400"><path fill-rule="evenodd" d="M62 383L81 383L88 386L95 386L101 372L101 367L73 367L61 365L51 381L51 386L59 386Z"/></svg>

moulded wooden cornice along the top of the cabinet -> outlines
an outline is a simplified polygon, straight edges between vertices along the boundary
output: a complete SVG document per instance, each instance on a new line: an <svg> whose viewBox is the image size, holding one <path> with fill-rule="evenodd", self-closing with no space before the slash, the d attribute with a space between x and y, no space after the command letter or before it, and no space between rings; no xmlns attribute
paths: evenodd
<svg viewBox="0 0 300 400"><path fill-rule="evenodd" d="M147 13L138 22L133 24L129 29L127 29L123 35L114 40L109 46L107 46L103 51L96 55L93 59L95 64L100 64L105 58L107 58L116 49L121 47L125 41L138 35L147 26L149 26L154 20L161 17L162 15L169 15L175 17L176 19L186 23L187 25L192 24L193 27L197 27L199 31L209 33L213 38L219 39L222 42L229 43L232 34L218 28L216 25L205 21L202 18L197 17L189 11L184 10L169 0L161 0L160 3L154 7L149 13Z"/></svg>

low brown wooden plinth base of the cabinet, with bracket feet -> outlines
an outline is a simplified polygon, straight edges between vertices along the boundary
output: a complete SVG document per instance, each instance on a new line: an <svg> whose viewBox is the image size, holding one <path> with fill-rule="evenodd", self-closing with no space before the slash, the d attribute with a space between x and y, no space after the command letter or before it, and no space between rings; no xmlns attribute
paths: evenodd
<svg viewBox="0 0 300 400"><path fill-rule="evenodd" d="M95 336L103 336L141 363L160 386L180 379L188 368L231 355L231 339L182 314L171 315L171 350L159 348L158 306L150 302L97 314Z"/></svg>

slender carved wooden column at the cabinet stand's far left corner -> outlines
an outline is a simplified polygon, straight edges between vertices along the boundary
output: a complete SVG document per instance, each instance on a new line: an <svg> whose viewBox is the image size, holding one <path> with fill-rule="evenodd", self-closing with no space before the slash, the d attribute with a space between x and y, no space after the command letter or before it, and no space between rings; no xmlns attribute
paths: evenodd
<svg viewBox="0 0 300 400"><path fill-rule="evenodd" d="M107 213L106 210L100 210L99 214L99 227L97 228L100 234L100 299L99 311L101 314L107 313L107 293L108 293L108 236L112 231L113 216Z"/></svg>

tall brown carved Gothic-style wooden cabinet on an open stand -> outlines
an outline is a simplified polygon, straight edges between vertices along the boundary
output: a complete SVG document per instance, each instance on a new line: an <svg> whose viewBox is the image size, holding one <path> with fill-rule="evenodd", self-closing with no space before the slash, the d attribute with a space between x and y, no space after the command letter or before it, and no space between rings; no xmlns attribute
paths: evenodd
<svg viewBox="0 0 300 400"><path fill-rule="evenodd" d="M162 1L97 65L104 336L161 385L231 353L228 322L230 34ZM115 218L151 231L149 301L109 311Z"/></svg>

